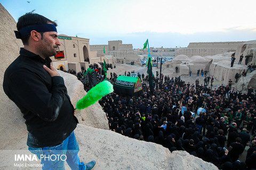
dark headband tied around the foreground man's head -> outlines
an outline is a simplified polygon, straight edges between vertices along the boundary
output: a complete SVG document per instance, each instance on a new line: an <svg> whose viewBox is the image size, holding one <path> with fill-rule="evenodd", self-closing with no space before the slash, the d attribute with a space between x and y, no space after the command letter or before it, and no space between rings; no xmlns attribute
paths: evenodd
<svg viewBox="0 0 256 170"><path fill-rule="evenodd" d="M57 32L57 28L53 24L28 25L27 27L21 28L20 31L14 31L14 32L15 32L16 38L21 39L24 36L30 35L30 32L33 30L37 32L49 32L49 31Z"/></svg>

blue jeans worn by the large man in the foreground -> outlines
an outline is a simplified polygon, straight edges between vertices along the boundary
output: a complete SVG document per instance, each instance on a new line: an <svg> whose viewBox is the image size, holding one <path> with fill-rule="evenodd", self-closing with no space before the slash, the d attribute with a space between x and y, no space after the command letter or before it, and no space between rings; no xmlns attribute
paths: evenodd
<svg viewBox="0 0 256 170"><path fill-rule="evenodd" d="M28 147L28 150L41 160L42 169L65 169L65 160L71 169L85 170L86 168L77 155L79 147L74 132L60 145L43 148Z"/></svg>

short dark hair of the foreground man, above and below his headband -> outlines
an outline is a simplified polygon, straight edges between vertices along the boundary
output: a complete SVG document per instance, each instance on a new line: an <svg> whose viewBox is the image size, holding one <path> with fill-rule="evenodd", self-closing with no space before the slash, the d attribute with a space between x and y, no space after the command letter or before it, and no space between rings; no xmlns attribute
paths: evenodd
<svg viewBox="0 0 256 170"><path fill-rule="evenodd" d="M18 22L17 22L17 30L18 31L23 27L27 27L28 25L47 24L48 22L54 24L55 27L57 27L56 22L45 18L43 15L39 15L39 14L36 14L33 12L34 11L28 12L28 13L20 16L20 18L18 19ZM41 35L43 36L43 33L41 33ZM30 35L22 37L21 40L22 40L23 45L28 45L29 37L30 37Z"/></svg>

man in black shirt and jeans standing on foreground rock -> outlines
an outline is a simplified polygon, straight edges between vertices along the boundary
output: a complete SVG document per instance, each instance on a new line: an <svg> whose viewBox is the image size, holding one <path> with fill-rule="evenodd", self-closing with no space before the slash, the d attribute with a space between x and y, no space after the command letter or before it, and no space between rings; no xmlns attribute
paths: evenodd
<svg viewBox="0 0 256 170"><path fill-rule="evenodd" d="M63 169L65 160L71 169L92 169L94 160L85 165L77 155L74 107L63 78L51 65L50 56L60 46L56 26L32 12L19 18L15 35L24 48L5 71L4 92L23 113L28 149L41 159L43 169Z"/></svg>

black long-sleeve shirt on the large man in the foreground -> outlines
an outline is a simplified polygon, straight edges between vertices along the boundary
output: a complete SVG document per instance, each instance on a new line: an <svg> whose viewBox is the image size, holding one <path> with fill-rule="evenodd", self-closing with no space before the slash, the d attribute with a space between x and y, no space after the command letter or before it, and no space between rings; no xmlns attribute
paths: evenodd
<svg viewBox="0 0 256 170"><path fill-rule="evenodd" d="M6 69L5 94L20 108L33 148L59 145L78 123L62 77L51 77L43 65L51 59L21 48L20 56Z"/></svg>

